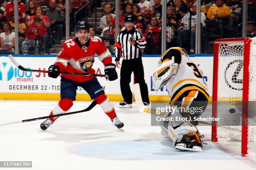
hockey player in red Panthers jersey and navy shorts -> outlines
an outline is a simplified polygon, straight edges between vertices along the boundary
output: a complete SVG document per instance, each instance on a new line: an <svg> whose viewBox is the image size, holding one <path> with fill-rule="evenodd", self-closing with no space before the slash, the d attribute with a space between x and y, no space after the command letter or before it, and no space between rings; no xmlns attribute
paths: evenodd
<svg viewBox="0 0 256 170"><path fill-rule="evenodd" d="M113 81L118 78L115 71L115 64L112 63L112 57L109 50L97 38L89 37L89 23L79 21L76 25L76 38L72 38L63 43L62 48L57 55L54 65L49 67L49 77L57 78L59 72L77 72L95 74L92 69L94 55L105 65L104 71L108 75L107 80ZM76 97L77 87L83 87L95 100L102 110L110 117L113 124L118 128L123 127L115 114L115 109L111 105L108 97L98 82L96 77L80 75L61 75L61 100L51 111L50 115L56 115L67 112L73 105ZM46 130L58 117L47 118L40 127Z"/></svg>

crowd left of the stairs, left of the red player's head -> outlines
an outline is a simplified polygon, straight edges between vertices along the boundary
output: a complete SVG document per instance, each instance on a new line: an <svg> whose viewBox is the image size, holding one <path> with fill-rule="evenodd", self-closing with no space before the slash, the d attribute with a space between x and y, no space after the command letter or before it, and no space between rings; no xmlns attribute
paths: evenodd
<svg viewBox="0 0 256 170"><path fill-rule="evenodd" d="M14 53L13 0L0 0L1 53ZM64 0L18 0L19 54L49 53L64 37ZM48 50L48 52L47 52Z"/></svg>

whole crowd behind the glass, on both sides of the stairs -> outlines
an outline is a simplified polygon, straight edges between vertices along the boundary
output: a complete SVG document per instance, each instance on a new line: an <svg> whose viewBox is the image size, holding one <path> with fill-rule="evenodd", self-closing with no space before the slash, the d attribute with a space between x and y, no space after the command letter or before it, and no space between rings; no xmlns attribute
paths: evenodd
<svg viewBox="0 0 256 170"><path fill-rule="evenodd" d="M99 28L95 25L95 28L90 28L90 36L100 39L113 53L115 9L108 0L98 0L97 7L101 7L101 2L105 2L104 15L100 18ZM81 0L78 6L88 3L90 0ZM256 2L252 4L254 10L248 11L248 37L256 36ZM201 0L201 5L202 45L207 46L207 42L217 38L241 37L243 0ZM167 0L167 47L179 46L191 54L195 52L196 7L197 0ZM61 43L65 36L65 0L18 0L18 8L20 54L49 53L53 45ZM92 8L87 6L86 15L92 12ZM125 26L125 16L133 15L136 29L147 41L144 54L161 53L162 8L163 0L120 0L119 31ZM13 53L14 42L13 0L0 0L1 51Z"/></svg>

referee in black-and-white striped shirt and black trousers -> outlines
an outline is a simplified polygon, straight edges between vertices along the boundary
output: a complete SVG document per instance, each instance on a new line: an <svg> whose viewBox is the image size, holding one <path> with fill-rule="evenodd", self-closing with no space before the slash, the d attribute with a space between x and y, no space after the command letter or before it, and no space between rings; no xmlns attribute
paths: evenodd
<svg viewBox="0 0 256 170"><path fill-rule="evenodd" d="M120 71L120 87L124 101L119 103L119 107L132 107L133 94L130 89L131 73L135 77L135 82L139 83L141 98L144 105L149 104L148 86L144 80L144 70L141 60L141 49L146 47L146 40L142 33L134 27L134 17L125 17L125 28L119 32L115 42L115 63L120 68L120 58L123 62Z"/></svg>

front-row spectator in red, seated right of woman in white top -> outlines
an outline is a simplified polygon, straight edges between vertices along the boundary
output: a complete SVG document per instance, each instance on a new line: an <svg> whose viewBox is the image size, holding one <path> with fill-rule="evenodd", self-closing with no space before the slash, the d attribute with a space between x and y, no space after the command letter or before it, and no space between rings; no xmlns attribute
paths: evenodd
<svg viewBox="0 0 256 170"><path fill-rule="evenodd" d="M45 39L47 29L41 25L41 18L36 16L33 18L33 25L28 28L25 41L22 42L23 54L26 54L27 50L24 50L28 47L28 51L33 54L39 54L39 49L41 46L45 47ZM32 46L31 46L32 45ZM25 46L25 47L24 47Z"/></svg>

